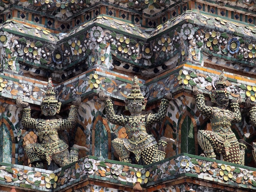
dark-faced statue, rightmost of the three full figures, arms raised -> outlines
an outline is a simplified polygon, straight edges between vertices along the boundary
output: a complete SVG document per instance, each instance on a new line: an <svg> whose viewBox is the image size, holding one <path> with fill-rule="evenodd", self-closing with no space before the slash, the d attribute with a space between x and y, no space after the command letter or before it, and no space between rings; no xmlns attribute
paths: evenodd
<svg viewBox="0 0 256 192"><path fill-rule="evenodd" d="M197 87L193 87L197 109L211 120L212 127L212 131L198 131L198 143L209 158L215 159L215 153L219 153L223 155L224 161L244 165L246 146L238 142L231 130L231 123L241 121L240 107L238 103L231 103L231 111L227 109L229 92L225 87L226 79L223 73L219 79L216 83L216 90L213 90L211 94L212 102L217 104L216 107L205 105L204 95L198 91Z"/></svg>

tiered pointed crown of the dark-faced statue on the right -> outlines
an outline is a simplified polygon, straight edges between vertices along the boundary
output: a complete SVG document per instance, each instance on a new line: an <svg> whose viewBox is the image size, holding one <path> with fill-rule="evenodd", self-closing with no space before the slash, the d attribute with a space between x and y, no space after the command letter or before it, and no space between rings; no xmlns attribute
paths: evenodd
<svg viewBox="0 0 256 192"><path fill-rule="evenodd" d="M216 98L219 94L225 94L226 97L229 96L229 92L227 91L227 78L224 75L224 69L222 70L219 80L215 82L215 89L212 90L210 97L213 103L216 103Z"/></svg>

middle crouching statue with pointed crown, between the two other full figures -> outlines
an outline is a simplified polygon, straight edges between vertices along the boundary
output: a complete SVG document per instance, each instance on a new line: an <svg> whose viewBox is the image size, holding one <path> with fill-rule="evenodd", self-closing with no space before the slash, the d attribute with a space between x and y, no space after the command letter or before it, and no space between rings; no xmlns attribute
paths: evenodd
<svg viewBox="0 0 256 192"><path fill-rule="evenodd" d="M102 96L99 97L102 99ZM130 111L131 116L116 115L112 100L109 98L105 100L108 120L116 125L124 126L128 135L128 138L115 138L112 141L113 148L119 155L120 161L131 162L130 152L135 154L137 162L142 158L146 164L161 161L165 158L166 153L160 148L165 147L167 142L173 143L174 140L162 137L157 143L153 135L146 132L146 127L164 119L168 103L169 101L163 98L157 114L141 115L146 100L141 95L136 76L130 94L126 98L126 108Z"/></svg>

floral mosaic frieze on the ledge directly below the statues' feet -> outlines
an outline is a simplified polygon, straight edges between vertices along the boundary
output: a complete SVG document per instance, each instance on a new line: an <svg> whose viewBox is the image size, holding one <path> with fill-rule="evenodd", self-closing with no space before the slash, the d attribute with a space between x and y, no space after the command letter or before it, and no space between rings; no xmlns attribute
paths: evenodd
<svg viewBox="0 0 256 192"><path fill-rule="evenodd" d="M21 170L14 167L1 166L0 179L7 183L27 183L45 189L56 188L60 190L64 183L72 185L81 182L87 176L91 179L96 178L103 181L122 181L128 183L141 182L147 184L148 181L158 182L165 179L173 179L173 176L181 173L195 174L198 178L215 178L218 183L231 182L238 188L245 185L256 189L256 172L237 167L237 165L225 165L219 163L191 158L189 156L178 156L175 159L166 160L160 164L148 168L137 168L127 165L119 165L113 162L91 159L90 156L79 160L65 170L57 173L43 174L33 170ZM230 184L230 183L229 183ZM71 184L70 184L71 185ZM66 186L67 187L67 186Z"/></svg>

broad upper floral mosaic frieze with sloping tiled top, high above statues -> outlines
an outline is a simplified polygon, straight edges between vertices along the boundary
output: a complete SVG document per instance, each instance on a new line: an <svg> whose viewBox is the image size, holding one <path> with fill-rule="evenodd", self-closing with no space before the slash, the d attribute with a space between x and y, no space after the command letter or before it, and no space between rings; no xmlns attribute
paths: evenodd
<svg viewBox="0 0 256 192"><path fill-rule="evenodd" d="M177 25L184 20L184 17L195 20L195 24ZM69 68L72 67L72 63L81 60L85 60L83 65L88 67L103 65L110 70L117 67L134 73L147 70L153 74L168 69L169 66L164 65L164 62L170 58L175 58L175 60L177 58L178 63L184 60L201 62L202 51L207 54L219 54L227 60L236 58L248 64L254 63L256 42L221 30L202 29L201 23L209 25L216 23L220 25L220 29L232 28L241 34L246 33L251 37L255 35L252 27L238 27L235 23L228 23L223 19L211 18L204 14L198 14L195 17L193 13L186 13L174 20L169 20L157 26L150 34L135 25L109 19L106 16L98 16L94 21L87 22L70 33L59 35L47 29L33 28L7 20L3 29L27 34L20 37L6 31L0 33L0 44L4 47L2 49L4 57L1 63L4 64L5 69L11 70L17 70L16 65L13 65L17 62L17 58L22 58L29 65L46 66L51 70L51 67L57 69L65 67L63 79L71 74L74 75L74 70L71 70L72 68L69 70ZM174 25L177 27L170 31L170 27ZM104 26L117 30L116 32L110 31ZM34 36L45 40L35 40ZM157 38L153 38L154 36ZM150 39L149 42L147 42L148 39ZM113 66L113 56L124 62L129 60L129 64L121 65L121 67L116 63ZM148 66L155 68L148 69ZM188 81L189 79L184 82L188 83Z"/></svg>

